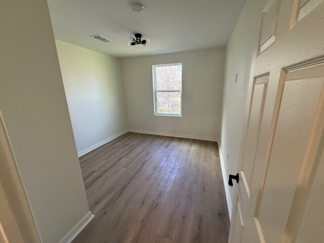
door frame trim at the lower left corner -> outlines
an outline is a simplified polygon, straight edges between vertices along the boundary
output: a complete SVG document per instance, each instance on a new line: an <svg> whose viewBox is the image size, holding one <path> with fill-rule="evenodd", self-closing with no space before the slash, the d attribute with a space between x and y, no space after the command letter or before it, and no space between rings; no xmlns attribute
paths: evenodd
<svg viewBox="0 0 324 243"><path fill-rule="evenodd" d="M29 205L23 182L16 165L15 155L7 134L0 110L0 200L8 207L1 210L0 226L16 225L16 229L1 227L3 237L10 241L12 237L21 238L21 242L41 243L37 226ZM3 214L4 213L4 214ZM5 240L6 242L6 240ZM14 241L16 242L16 241Z"/></svg>

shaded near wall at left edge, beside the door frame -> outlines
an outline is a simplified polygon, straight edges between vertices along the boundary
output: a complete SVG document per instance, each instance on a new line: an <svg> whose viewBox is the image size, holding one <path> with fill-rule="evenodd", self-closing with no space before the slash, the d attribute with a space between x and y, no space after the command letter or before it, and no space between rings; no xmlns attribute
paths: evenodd
<svg viewBox="0 0 324 243"><path fill-rule="evenodd" d="M46 0L2 1L0 110L44 243L89 207Z"/></svg>

